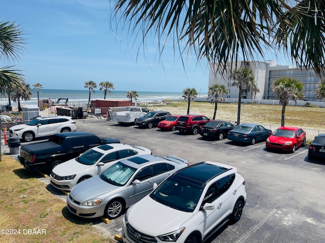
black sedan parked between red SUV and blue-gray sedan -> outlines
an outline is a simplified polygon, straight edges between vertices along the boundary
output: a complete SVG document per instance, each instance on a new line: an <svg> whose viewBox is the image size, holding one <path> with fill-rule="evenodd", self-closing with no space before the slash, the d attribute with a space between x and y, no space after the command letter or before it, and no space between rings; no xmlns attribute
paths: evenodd
<svg viewBox="0 0 325 243"><path fill-rule="evenodd" d="M199 133L203 138L224 139L235 125L224 120L210 120L206 125L200 127Z"/></svg>

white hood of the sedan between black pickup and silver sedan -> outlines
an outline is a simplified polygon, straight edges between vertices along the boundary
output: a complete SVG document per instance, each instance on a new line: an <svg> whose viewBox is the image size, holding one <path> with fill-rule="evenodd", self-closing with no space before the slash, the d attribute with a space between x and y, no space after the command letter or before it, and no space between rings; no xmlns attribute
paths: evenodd
<svg viewBox="0 0 325 243"><path fill-rule="evenodd" d="M86 171L88 171L93 167L94 165L87 166L87 165L80 164L79 162L76 161L76 158L73 158L54 167L53 173L55 173L58 176L70 176L74 174L78 175L80 173L85 173Z"/></svg>

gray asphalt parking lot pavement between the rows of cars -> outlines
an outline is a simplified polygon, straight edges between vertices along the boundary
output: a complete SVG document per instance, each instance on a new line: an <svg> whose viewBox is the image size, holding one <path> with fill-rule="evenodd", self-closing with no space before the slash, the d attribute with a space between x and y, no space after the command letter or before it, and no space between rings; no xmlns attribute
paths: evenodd
<svg viewBox="0 0 325 243"><path fill-rule="evenodd" d="M224 226L210 242L325 242L325 162L309 160L307 146L295 153L268 152L265 142L245 146L228 139L209 141L200 135L119 126L90 117L76 123L77 131L144 146L158 156L176 155L190 165L211 160L237 167L246 180L242 218ZM50 184L47 188L65 196ZM120 234L121 220L92 222L105 235L114 237Z"/></svg>

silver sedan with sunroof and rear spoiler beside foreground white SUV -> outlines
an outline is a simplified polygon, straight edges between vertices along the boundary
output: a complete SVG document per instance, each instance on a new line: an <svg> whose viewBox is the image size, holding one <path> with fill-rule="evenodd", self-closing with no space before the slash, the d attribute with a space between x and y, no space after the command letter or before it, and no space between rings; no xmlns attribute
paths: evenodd
<svg viewBox="0 0 325 243"><path fill-rule="evenodd" d="M77 184L67 196L68 209L82 218L115 219L174 172L185 168L185 159L139 155L119 161L103 174Z"/></svg>

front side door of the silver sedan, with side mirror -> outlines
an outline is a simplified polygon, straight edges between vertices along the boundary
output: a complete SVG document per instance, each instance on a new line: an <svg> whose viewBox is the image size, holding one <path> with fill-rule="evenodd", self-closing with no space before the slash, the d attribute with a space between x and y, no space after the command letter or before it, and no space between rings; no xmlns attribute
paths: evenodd
<svg viewBox="0 0 325 243"><path fill-rule="evenodd" d="M139 180L140 183L134 184L133 182L135 180ZM151 166L147 166L136 173L131 184L127 187L128 206L137 203L137 201L149 194L152 189L152 168Z"/></svg>

